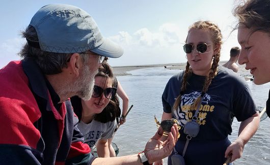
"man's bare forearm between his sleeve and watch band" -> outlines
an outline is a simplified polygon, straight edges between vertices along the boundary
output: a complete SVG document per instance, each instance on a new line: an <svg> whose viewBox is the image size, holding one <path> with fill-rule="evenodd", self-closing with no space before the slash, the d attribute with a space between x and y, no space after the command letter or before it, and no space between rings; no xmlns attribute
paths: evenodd
<svg viewBox="0 0 270 165"><path fill-rule="evenodd" d="M127 155L127 156L121 156L121 157L106 157L106 158L96 158L93 162L92 165L100 165L100 164L123 164L123 165L141 165L143 164L141 162L141 158L139 157L138 154L134 155Z"/></svg>

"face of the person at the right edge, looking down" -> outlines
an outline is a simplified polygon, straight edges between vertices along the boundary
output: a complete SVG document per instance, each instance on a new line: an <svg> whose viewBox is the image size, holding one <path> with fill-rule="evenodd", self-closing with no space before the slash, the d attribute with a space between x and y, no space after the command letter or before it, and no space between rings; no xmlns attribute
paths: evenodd
<svg viewBox="0 0 270 165"><path fill-rule="evenodd" d="M251 31L242 24L238 27L241 45L238 63L246 64L246 69L254 75L254 83L261 85L270 81L270 35L260 31L251 34Z"/></svg>

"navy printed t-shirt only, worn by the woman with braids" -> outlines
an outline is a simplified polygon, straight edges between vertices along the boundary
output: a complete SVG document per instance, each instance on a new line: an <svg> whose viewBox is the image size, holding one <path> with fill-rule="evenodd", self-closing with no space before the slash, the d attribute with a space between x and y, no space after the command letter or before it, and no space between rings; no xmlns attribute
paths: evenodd
<svg viewBox="0 0 270 165"><path fill-rule="evenodd" d="M164 90L162 101L165 113L171 113L175 99L180 93L183 72L170 78ZM187 80L177 111L173 117L183 128L190 121L196 110L190 111L191 105L201 95L205 76L192 73ZM200 131L193 140L223 140L232 132L232 121L244 121L256 113L256 106L251 96L250 89L244 78L231 71L219 68L203 97L197 122ZM183 129L180 130L180 140L186 140Z"/></svg>

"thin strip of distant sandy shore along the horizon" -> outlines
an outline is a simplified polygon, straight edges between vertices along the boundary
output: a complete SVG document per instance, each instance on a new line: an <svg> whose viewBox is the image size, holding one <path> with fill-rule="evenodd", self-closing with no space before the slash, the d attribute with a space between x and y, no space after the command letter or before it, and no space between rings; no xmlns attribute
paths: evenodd
<svg viewBox="0 0 270 165"><path fill-rule="evenodd" d="M223 65L226 61L221 61L219 64ZM186 63L174 63L174 64L154 64L154 65L138 65L138 66L122 66L122 67L112 67L113 73L115 76L125 76L131 75L128 71L137 70L137 69L144 69L144 68L155 68L155 67L164 67L166 69L173 69L173 70L184 70ZM245 69L245 65L238 65L239 70L238 74L243 77L248 77L246 79L250 79L252 74L250 74L249 70Z"/></svg>

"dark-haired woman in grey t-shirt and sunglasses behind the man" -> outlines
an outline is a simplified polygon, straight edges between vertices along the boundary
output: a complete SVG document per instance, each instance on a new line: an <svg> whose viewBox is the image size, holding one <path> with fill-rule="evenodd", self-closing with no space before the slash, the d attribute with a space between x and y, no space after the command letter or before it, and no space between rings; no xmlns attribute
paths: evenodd
<svg viewBox="0 0 270 165"><path fill-rule="evenodd" d="M91 149L96 145L99 157L110 157L109 139L117 128L115 108L118 104L112 100L117 97L116 90L112 68L103 62L95 75L91 99L71 98L74 113L79 120L78 128L85 136L85 143Z"/></svg>

